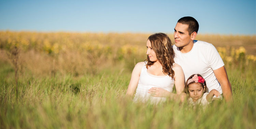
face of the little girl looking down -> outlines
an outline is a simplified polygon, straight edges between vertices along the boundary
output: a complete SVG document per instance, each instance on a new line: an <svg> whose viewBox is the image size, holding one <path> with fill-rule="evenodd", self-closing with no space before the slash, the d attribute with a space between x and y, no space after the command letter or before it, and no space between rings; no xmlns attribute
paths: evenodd
<svg viewBox="0 0 256 129"><path fill-rule="evenodd" d="M193 102L196 102L203 96L203 87L200 83L193 83L188 85L188 91Z"/></svg>

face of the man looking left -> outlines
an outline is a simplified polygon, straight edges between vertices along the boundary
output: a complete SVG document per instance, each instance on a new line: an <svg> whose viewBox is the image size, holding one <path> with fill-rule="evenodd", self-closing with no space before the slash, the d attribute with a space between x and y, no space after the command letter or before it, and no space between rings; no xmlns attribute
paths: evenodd
<svg viewBox="0 0 256 129"><path fill-rule="evenodd" d="M179 22L174 28L173 36L176 47L185 47L191 41L191 35L188 33L188 25Z"/></svg>

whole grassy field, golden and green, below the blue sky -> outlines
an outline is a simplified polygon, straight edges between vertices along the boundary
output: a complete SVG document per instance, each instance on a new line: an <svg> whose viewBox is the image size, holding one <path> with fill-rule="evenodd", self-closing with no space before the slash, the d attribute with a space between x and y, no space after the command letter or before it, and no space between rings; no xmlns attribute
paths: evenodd
<svg viewBox="0 0 256 129"><path fill-rule="evenodd" d="M124 97L149 35L0 32L0 128L256 128L255 36L198 35L222 56L234 97L202 110Z"/></svg>

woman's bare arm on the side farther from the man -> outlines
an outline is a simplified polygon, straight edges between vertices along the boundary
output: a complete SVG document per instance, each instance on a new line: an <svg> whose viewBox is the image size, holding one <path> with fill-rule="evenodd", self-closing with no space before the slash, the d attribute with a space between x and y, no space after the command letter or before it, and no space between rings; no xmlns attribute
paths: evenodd
<svg viewBox="0 0 256 129"><path fill-rule="evenodd" d="M127 92L126 92L126 95L125 96L128 96L128 97L132 97L137 86L138 86L138 82L139 82L139 79L140 79L140 73L141 73L141 69L142 67L144 66L145 62L139 62L136 64L136 66L133 68L133 71L131 73L131 80L130 80L130 83L129 83L129 86L128 86L128 89L127 89Z"/></svg>

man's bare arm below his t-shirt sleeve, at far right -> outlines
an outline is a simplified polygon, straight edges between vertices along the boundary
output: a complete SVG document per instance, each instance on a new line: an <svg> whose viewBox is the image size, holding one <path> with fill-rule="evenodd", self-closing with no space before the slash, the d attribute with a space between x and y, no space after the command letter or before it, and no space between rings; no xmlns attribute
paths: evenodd
<svg viewBox="0 0 256 129"><path fill-rule="evenodd" d="M228 80L228 75L225 67L218 68L216 70L213 70L214 75L216 76L219 84L221 84L221 89L223 92L224 99L226 102L233 100L233 93L231 89L231 84Z"/></svg>

